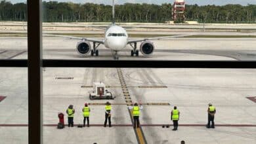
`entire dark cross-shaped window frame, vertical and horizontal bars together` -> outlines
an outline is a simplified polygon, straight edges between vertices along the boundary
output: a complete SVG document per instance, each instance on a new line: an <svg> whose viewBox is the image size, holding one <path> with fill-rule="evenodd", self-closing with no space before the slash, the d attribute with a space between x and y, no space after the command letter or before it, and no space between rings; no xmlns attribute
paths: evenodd
<svg viewBox="0 0 256 144"><path fill-rule="evenodd" d="M28 67L28 143L43 143L42 67L144 67L255 69L256 61L42 60L41 0L27 0L28 60L0 60L0 67Z"/></svg>

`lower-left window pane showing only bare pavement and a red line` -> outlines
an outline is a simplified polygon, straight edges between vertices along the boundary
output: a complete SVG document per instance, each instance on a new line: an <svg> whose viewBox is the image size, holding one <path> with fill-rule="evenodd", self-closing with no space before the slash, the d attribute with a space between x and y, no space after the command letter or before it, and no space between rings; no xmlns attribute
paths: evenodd
<svg viewBox="0 0 256 144"><path fill-rule="evenodd" d="M0 67L1 143L28 143L28 68Z"/></svg>

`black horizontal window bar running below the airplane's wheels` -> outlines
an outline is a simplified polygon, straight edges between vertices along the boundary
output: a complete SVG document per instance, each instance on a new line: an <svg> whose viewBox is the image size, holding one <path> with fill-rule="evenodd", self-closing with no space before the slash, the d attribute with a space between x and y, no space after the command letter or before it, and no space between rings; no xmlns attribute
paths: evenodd
<svg viewBox="0 0 256 144"><path fill-rule="evenodd" d="M247 61L42 60L43 67L230 68L255 69ZM0 67L28 67L28 60L0 60Z"/></svg>

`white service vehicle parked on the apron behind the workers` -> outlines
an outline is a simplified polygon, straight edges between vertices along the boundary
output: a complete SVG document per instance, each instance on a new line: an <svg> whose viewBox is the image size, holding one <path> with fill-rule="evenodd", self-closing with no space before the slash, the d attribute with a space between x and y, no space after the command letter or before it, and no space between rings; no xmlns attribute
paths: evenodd
<svg viewBox="0 0 256 144"><path fill-rule="evenodd" d="M93 82L93 91L89 92L89 98L93 99L114 99L112 92L106 90L103 82Z"/></svg>

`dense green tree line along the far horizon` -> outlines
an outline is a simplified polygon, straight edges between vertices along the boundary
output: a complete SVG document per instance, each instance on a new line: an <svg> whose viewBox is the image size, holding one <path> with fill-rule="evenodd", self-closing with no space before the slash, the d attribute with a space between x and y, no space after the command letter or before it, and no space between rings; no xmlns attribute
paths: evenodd
<svg viewBox="0 0 256 144"><path fill-rule="evenodd" d="M0 20L26 21L26 3L0 2ZM172 5L164 3L116 5L116 22L165 22L172 20ZM186 20L205 23L256 23L256 5L186 5ZM112 6L94 3L43 1L43 22L110 22Z"/></svg>

